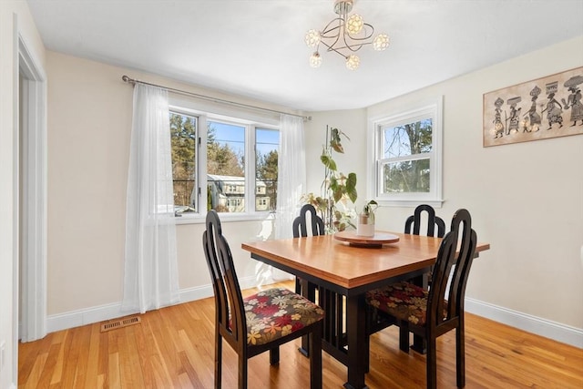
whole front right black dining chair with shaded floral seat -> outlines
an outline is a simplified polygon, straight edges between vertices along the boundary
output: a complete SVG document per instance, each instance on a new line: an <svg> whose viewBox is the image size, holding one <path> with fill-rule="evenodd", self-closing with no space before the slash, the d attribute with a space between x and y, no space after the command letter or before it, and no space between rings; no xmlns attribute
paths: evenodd
<svg viewBox="0 0 583 389"><path fill-rule="evenodd" d="M366 293L365 300L374 309L400 322L406 333L424 338L427 388L437 386L436 338L454 329L456 384L465 386L464 298L475 255L471 216L467 210L457 210L439 246L429 289L404 281Z"/></svg>

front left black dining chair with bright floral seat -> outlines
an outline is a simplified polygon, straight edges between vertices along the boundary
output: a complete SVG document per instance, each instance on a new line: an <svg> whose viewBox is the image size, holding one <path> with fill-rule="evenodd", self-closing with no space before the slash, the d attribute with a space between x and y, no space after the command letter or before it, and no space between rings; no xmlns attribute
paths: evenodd
<svg viewBox="0 0 583 389"><path fill-rule="evenodd" d="M303 335L310 338L310 387L322 388L322 308L285 288L243 298L215 210L207 213L202 245L215 296L215 388L221 387L223 339L239 355L238 387L243 389L251 357L269 350L270 363L277 364L280 345Z"/></svg>

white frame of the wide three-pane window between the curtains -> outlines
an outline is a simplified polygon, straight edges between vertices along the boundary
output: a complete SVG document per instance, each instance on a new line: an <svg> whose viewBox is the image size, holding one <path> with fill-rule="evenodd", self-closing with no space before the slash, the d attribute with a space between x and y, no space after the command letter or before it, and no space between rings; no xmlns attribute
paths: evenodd
<svg viewBox="0 0 583 389"><path fill-rule="evenodd" d="M197 210L196 212L182 213L176 216L177 224L203 223L206 219L206 193L207 193L207 128L209 121L217 121L221 123L232 124L245 128L245 198L244 198L244 212L221 212L220 219L225 221L242 221L242 220L264 220L269 214L270 210L255 210L256 193L255 193L255 177L256 177L256 148L255 148L255 134L256 128L270 129L281 131L279 125L279 118L263 118L257 115L250 115L245 112L220 112L221 109L200 109L209 108L208 106L200 106L194 102L182 100L178 98L170 98L169 112L179 115L187 115L196 117L198 121L198 138L196 143L196 182L197 188ZM224 111L224 109L222 110ZM279 152L279 149L278 149ZM249 193L249 195L247 194ZM204 208L204 210L202 210Z"/></svg>

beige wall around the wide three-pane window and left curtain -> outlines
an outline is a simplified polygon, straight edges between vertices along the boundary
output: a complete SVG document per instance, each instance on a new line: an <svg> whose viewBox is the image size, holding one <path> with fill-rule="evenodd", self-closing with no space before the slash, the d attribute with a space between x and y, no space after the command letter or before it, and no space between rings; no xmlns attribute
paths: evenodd
<svg viewBox="0 0 583 389"><path fill-rule="evenodd" d="M121 77L226 97L167 78L50 51L47 69L47 310L51 332L120 315L133 94L133 88ZM233 96L228 99L255 104ZM223 224L242 284L265 282L265 267L251 261L240 243L269 235L271 220ZM203 230L203 223L177 227L183 299L212 294L201 245Z"/></svg>

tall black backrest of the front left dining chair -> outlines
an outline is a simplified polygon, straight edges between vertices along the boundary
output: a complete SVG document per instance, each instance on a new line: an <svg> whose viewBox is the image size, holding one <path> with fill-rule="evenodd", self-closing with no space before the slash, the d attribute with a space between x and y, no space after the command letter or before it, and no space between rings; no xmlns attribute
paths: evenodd
<svg viewBox="0 0 583 389"><path fill-rule="evenodd" d="M222 235L219 214L207 213L207 229L202 234L202 246L209 265L215 293L216 322L221 335L236 349L247 342L247 322L237 273L233 266L229 243Z"/></svg>

